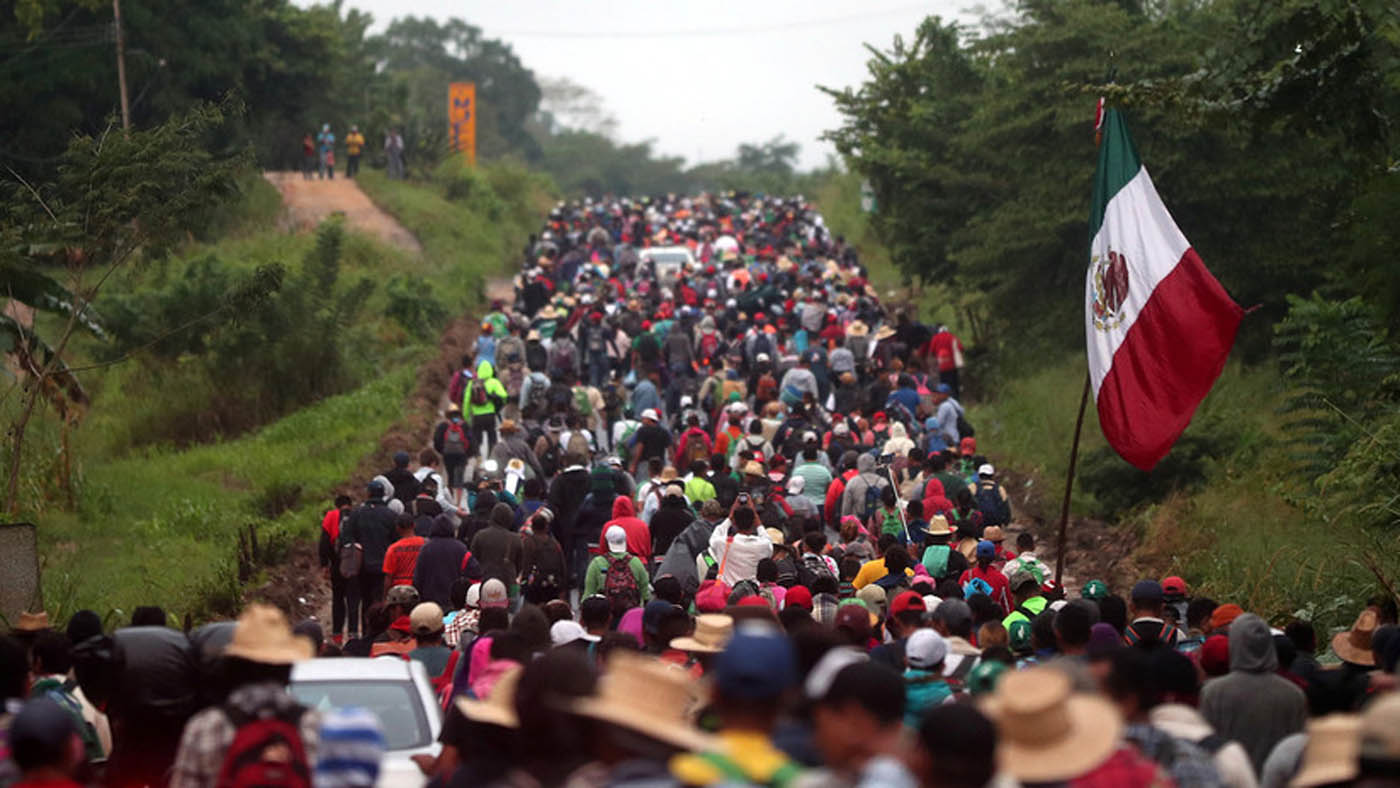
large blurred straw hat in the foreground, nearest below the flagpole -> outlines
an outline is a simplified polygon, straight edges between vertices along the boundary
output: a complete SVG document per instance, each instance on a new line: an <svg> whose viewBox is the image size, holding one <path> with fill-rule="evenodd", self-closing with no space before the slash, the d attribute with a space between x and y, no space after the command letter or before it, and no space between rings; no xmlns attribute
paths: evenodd
<svg viewBox="0 0 1400 788"><path fill-rule="evenodd" d="M1008 672L983 707L995 721L997 764L1022 782L1058 782L1103 763L1123 719L1109 701L1071 691L1054 668Z"/></svg>

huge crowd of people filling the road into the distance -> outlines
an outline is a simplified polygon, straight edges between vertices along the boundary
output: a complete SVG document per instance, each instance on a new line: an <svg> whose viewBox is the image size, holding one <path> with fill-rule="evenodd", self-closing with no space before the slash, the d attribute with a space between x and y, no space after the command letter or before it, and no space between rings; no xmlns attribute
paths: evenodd
<svg viewBox="0 0 1400 788"><path fill-rule="evenodd" d="M438 785L1400 785L1393 599L1319 642L1179 577L1061 588L960 342L802 199L560 204L515 293L431 446L325 514L329 620L25 619L0 788L372 784L377 721L287 693L312 655L423 665ZM181 640L211 679L174 698L133 665Z"/></svg>

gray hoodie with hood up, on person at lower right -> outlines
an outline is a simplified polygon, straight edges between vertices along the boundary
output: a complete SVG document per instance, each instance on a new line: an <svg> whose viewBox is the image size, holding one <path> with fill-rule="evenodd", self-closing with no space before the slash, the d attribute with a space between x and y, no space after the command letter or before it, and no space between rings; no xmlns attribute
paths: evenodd
<svg viewBox="0 0 1400 788"><path fill-rule="evenodd" d="M1308 721L1308 698L1277 669L1268 624L1245 613L1229 626L1229 673L1201 690L1201 715L1222 738L1245 747L1256 771L1274 745Z"/></svg>

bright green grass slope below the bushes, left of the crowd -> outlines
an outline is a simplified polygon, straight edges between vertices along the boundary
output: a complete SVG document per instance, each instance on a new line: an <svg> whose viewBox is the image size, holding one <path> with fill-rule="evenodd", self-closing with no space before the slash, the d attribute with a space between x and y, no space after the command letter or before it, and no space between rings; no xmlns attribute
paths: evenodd
<svg viewBox="0 0 1400 788"><path fill-rule="evenodd" d="M259 523L273 542L314 537L326 491L377 448L412 382L402 367L235 441L90 465L77 511L39 522L50 612L162 605L176 617L207 613L237 588L238 529ZM297 502L269 518L265 502L294 488Z"/></svg>

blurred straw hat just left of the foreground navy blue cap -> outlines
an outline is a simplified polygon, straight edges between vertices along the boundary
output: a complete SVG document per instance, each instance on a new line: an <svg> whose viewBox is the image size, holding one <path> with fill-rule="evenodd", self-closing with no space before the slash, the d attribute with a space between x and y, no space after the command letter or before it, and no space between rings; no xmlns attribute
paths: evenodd
<svg viewBox="0 0 1400 788"><path fill-rule="evenodd" d="M598 694L574 701L574 714L612 722L689 752L713 750L714 736L686 718L693 703L690 673L658 659L615 651Z"/></svg>

